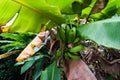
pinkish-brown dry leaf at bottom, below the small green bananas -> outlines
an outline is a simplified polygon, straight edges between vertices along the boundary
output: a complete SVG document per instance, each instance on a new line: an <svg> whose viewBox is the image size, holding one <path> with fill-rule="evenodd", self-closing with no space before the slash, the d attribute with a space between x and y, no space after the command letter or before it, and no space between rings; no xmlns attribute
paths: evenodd
<svg viewBox="0 0 120 80"><path fill-rule="evenodd" d="M67 80L97 80L82 60L64 61L63 70Z"/></svg>

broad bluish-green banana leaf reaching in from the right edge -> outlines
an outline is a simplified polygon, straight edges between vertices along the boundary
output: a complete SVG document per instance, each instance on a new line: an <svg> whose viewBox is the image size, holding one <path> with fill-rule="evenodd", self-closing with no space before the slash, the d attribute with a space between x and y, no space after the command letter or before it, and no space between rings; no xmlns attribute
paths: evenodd
<svg viewBox="0 0 120 80"><path fill-rule="evenodd" d="M120 18L111 18L81 25L77 33L99 45L120 49Z"/></svg>

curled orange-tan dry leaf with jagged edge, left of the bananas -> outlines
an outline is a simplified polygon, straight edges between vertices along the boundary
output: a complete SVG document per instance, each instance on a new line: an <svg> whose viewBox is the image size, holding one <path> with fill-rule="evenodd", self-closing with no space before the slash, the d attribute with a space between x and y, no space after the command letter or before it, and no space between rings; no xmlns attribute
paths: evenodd
<svg viewBox="0 0 120 80"><path fill-rule="evenodd" d="M45 36L48 35L48 32L40 32L31 43L21 52L21 54L17 57L17 61L21 62L30 56L35 54L34 47L40 47L43 41L45 40Z"/></svg>

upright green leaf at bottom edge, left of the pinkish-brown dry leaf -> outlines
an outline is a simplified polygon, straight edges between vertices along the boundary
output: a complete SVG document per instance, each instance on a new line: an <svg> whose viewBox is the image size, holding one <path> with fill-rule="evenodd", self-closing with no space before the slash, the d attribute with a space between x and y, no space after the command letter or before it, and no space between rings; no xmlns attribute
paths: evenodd
<svg viewBox="0 0 120 80"><path fill-rule="evenodd" d="M61 80L60 79L60 68L57 68L57 62L54 61L44 71L42 71L40 80Z"/></svg>

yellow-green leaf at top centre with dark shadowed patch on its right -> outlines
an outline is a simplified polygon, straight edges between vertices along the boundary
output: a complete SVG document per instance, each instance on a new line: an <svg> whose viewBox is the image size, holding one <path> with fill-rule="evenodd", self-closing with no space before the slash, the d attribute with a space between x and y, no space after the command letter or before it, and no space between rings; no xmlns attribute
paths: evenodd
<svg viewBox="0 0 120 80"><path fill-rule="evenodd" d="M54 5L59 8L62 14L74 14L73 5L77 9L77 13L81 12L80 7L83 9L88 7L91 0L46 0L49 5ZM81 4L81 5L79 5Z"/></svg>

